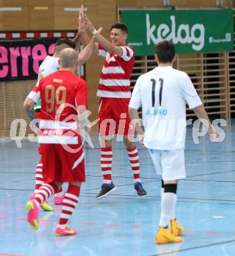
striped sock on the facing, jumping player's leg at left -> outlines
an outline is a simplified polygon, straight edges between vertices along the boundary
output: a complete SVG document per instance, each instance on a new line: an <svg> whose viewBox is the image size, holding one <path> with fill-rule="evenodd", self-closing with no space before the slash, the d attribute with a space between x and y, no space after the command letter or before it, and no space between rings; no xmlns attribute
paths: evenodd
<svg viewBox="0 0 235 256"><path fill-rule="evenodd" d="M110 184L112 182L112 147L101 148L101 171L103 175L103 183Z"/></svg>

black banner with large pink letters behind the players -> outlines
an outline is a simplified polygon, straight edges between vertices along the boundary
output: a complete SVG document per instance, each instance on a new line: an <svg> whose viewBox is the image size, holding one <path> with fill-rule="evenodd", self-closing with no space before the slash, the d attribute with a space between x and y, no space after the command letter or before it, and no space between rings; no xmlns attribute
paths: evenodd
<svg viewBox="0 0 235 256"><path fill-rule="evenodd" d="M0 81L37 79L41 62L58 39L0 41Z"/></svg>

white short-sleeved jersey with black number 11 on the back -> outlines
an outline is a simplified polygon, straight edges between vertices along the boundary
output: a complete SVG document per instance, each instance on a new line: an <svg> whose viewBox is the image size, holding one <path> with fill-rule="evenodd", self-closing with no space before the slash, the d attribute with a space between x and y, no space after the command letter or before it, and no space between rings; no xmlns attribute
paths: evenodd
<svg viewBox="0 0 235 256"><path fill-rule="evenodd" d="M142 105L147 148L185 148L186 102L189 108L202 105L185 72L171 66L157 67L137 79L129 107L138 109Z"/></svg>

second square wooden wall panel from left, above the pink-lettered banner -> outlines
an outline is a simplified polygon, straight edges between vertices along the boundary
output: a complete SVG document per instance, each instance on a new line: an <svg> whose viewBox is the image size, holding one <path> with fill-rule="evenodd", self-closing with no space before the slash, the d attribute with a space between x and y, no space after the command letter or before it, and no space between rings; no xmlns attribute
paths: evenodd
<svg viewBox="0 0 235 256"><path fill-rule="evenodd" d="M54 30L54 6L46 7L47 10L35 10L29 7L29 30Z"/></svg>

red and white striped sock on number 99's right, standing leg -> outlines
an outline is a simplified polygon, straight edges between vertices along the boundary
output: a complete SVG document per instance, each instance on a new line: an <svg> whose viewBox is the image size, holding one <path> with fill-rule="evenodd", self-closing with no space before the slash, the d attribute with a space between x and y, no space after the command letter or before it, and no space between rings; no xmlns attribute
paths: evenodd
<svg viewBox="0 0 235 256"><path fill-rule="evenodd" d="M65 193L65 198L63 198L62 203L62 213L60 215L60 221L58 226L60 228L65 228L69 218L73 214L77 203L79 202L80 186L69 185L67 192Z"/></svg>

